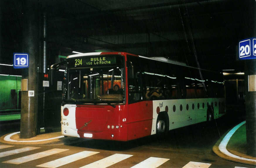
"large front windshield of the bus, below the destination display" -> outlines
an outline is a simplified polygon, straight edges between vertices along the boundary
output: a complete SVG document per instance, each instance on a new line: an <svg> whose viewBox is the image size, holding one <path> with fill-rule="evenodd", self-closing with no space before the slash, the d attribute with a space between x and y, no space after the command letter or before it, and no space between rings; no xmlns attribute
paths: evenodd
<svg viewBox="0 0 256 168"><path fill-rule="evenodd" d="M71 68L68 71L66 101L124 103L124 65ZM65 101L65 99L64 99Z"/></svg>

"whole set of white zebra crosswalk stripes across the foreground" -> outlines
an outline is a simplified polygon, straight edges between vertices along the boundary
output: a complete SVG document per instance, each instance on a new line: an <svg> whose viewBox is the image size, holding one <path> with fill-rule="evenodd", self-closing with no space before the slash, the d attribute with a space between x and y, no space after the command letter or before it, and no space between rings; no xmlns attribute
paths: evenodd
<svg viewBox="0 0 256 168"><path fill-rule="evenodd" d="M4 148L10 148L13 147L13 145L0 145L0 149L4 149ZM9 156L9 155L14 155L14 154L18 154L18 153L22 153L22 152L26 152L26 151L30 151L30 150L35 150L38 149L40 147L24 147L24 148L18 148L15 150L8 150L5 152L0 152L0 158L1 157L5 157L5 156ZM46 157L46 156L50 156L50 155L54 155L56 153L60 153L60 152L64 152L66 150L69 149L58 149L58 148L54 148L54 149L50 149L50 150L46 150L43 152L39 152L39 153L35 153L32 155L27 155L24 157L19 157L16 159L12 159L12 160L7 160L4 161L2 163L10 163L10 164L21 164L21 163L25 163L25 162L29 162L32 160L36 160L42 157ZM40 165L37 165L37 167L47 167L47 168L56 168L56 167L60 167L63 166L65 164L69 164L71 162L75 162L77 160L83 159L85 157L89 157L92 155L95 155L99 152L93 152L93 151L82 151L79 153L75 153L73 155L69 155L69 156L65 156L56 160L52 160L50 162L46 162ZM109 167L117 162L120 162L122 160L125 160L129 157L131 157L133 155L126 155L126 154L114 154L108 157L105 157L101 160L98 160L96 162L93 162L91 164L87 164L83 167L80 168L88 168L88 167L95 167L95 168L106 168ZM159 167L160 165L162 165L163 163L167 162L170 159L166 159L166 158L158 158L158 157L149 157L148 159L130 167L130 168L156 168ZM209 168L211 166L210 163L201 163L201 162L189 162L187 163L184 167L182 168ZM247 168L247 167L238 167L235 166L235 168Z"/></svg>

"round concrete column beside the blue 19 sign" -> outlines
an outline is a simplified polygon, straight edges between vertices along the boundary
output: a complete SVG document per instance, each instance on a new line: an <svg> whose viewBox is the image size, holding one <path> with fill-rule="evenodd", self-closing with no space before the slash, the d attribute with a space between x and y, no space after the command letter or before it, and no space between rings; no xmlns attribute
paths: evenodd
<svg viewBox="0 0 256 168"><path fill-rule="evenodd" d="M37 58L38 58L38 1L23 1L23 52L29 54L29 68L22 70L22 78L28 79L28 90L34 90L34 97L28 91L21 92L21 138L36 136L37 130Z"/></svg>

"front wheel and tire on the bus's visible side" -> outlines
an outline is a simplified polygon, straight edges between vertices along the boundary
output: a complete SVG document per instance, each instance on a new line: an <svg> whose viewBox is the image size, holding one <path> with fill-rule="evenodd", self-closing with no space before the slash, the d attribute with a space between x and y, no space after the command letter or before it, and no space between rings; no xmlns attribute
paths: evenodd
<svg viewBox="0 0 256 168"><path fill-rule="evenodd" d="M156 134L159 138L167 135L169 130L169 118L166 112L159 113L156 120Z"/></svg>

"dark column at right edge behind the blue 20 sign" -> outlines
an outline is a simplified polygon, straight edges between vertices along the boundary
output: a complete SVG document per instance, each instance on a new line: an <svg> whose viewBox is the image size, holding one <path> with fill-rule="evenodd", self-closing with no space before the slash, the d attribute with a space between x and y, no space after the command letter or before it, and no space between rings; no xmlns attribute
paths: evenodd
<svg viewBox="0 0 256 168"><path fill-rule="evenodd" d="M256 3L251 1L248 3L248 32L251 33L248 37L256 37ZM248 76L256 75L256 60L245 61L245 104L246 104L246 138L247 138L247 153L250 156L256 157L256 91L249 91Z"/></svg>

